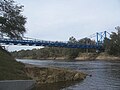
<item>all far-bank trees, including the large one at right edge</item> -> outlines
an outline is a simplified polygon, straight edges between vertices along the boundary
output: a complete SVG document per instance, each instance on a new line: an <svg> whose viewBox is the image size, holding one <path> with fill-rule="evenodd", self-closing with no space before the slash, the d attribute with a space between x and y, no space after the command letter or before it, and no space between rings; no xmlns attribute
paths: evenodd
<svg viewBox="0 0 120 90"><path fill-rule="evenodd" d="M110 39L105 38L104 40L104 52L119 56L120 55L120 27L116 27L117 32L112 32ZM69 43L76 44L92 44L95 45L95 41L89 38L84 38L81 40L76 40L74 37L69 38ZM33 50L21 50L14 51L12 55L16 58L31 58L31 59L47 59L49 57L65 57L66 59L74 59L81 53L91 52L96 53L95 49L75 49L75 48L60 48L60 47L44 47L41 49Z"/></svg>

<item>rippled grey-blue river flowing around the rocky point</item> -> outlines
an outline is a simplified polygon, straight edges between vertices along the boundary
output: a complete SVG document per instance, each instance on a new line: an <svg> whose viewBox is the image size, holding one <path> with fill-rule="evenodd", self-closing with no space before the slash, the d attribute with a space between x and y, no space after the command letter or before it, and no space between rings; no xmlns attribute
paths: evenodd
<svg viewBox="0 0 120 90"><path fill-rule="evenodd" d="M90 76L81 82L48 84L36 90L120 90L120 61L63 61L28 60L17 61L38 67L63 67L82 71Z"/></svg>

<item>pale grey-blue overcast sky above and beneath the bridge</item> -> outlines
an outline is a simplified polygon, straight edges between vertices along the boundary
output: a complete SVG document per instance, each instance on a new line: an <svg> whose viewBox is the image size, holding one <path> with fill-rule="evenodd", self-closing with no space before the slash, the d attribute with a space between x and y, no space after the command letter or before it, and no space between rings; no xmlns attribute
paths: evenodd
<svg viewBox="0 0 120 90"><path fill-rule="evenodd" d="M24 5L26 37L67 41L120 26L120 0L16 0ZM9 50L19 47L9 46ZM24 48L25 49L25 48Z"/></svg>

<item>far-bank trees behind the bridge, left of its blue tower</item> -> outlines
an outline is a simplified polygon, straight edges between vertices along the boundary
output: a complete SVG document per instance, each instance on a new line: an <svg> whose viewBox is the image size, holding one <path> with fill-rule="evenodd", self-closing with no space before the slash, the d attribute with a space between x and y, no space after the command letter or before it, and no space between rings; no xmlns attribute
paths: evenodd
<svg viewBox="0 0 120 90"><path fill-rule="evenodd" d="M75 44L95 44L95 41L92 41L89 38L84 38L81 40L76 40L73 36L69 38L68 43ZM80 53L84 52L95 52L95 49L76 49L76 48L62 48L62 47L44 47L41 49L32 49L32 50L21 50L14 51L12 55L16 58L31 58L31 59L47 59L56 57L65 57L65 59L74 59Z"/></svg>

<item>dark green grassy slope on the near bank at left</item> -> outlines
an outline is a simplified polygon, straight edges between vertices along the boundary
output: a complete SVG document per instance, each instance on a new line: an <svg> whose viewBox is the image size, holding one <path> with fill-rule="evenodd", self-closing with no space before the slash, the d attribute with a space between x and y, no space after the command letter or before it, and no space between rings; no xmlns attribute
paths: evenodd
<svg viewBox="0 0 120 90"><path fill-rule="evenodd" d="M29 79L24 64L17 62L9 52L0 47L0 80Z"/></svg>

